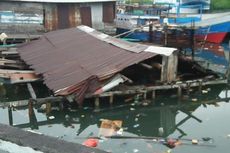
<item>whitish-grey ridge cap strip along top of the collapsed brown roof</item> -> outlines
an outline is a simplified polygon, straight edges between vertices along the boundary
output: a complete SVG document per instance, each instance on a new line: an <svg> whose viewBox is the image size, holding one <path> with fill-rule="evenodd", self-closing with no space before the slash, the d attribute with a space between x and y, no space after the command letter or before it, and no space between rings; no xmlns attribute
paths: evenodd
<svg viewBox="0 0 230 153"><path fill-rule="evenodd" d="M128 41L124 41L121 39L114 38L112 36L106 35L104 33L98 32L95 29L92 29L88 26L77 26L77 28L81 31L84 31L91 36L104 41L106 43L112 44L116 47L119 47L121 49L125 49L127 51L140 53L140 52L150 52L155 54L160 54L164 56L170 56L174 51L176 51L176 48L170 48L170 47L159 47L159 46L150 46L150 45L143 45L138 43L132 43Z"/></svg>

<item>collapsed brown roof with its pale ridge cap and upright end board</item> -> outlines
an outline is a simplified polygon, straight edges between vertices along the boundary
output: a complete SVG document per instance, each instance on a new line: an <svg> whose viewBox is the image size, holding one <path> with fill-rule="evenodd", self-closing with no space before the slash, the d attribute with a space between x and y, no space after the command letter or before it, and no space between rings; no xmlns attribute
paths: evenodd
<svg viewBox="0 0 230 153"><path fill-rule="evenodd" d="M129 80L120 72L157 55L162 57L162 82L174 81L177 73L175 48L126 42L87 26L46 33L18 52L55 95L74 95L78 103L85 94L100 94Z"/></svg>

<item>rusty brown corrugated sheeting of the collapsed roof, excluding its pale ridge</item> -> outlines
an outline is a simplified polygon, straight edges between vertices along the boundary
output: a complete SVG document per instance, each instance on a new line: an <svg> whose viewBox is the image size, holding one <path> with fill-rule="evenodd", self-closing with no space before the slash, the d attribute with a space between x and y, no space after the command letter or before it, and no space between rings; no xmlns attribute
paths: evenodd
<svg viewBox="0 0 230 153"><path fill-rule="evenodd" d="M157 55L122 49L78 28L46 33L19 47L18 52L57 95L86 92L89 84L97 87L101 80ZM97 83L92 83L95 79Z"/></svg>

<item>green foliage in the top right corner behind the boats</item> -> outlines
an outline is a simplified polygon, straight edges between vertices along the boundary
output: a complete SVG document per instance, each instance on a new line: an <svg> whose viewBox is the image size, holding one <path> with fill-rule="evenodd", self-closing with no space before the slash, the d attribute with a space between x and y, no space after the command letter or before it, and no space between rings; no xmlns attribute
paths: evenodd
<svg viewBox="0 0 230 153"><path fill-rule="evenodd" d="M211 0L212 10L230 9L230 0Z"/></svg>

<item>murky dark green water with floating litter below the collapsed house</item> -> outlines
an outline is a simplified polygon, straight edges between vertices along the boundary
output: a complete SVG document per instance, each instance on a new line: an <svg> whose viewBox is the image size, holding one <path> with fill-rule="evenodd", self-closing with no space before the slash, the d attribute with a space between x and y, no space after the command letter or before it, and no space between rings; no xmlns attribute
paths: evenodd
<svg viewBox="0 0 230 153"><path fill-rule="evenodd" d="M59 139L83 143L87 137L98 136L101 119L121 120L120 139L102 139L98 148L114 153L217 153L228 152L230 146L230 103L217 100L230 97L222 86L205 88L203 94L192 93L181 102L175 96L163 94L148 106L129 103L95 112L90 107L81 110L54 110L47 117L35 110L36 120L29 123L28 110L13 111L13 125ZM0 109L0 122L9 124L8 109ZM160 131L160 132L159 132ZM139 139L139 136L181 138L181 145L170 149L160 139ZM210 138L203 141L202 138ZM197 139L198 144L192 144ZM202 140L202 141L201 141ZM161 140L162 141L162 140ZM169 150L170 149L170 150Z"/></svg>

